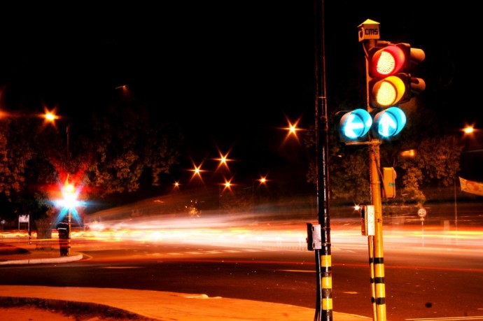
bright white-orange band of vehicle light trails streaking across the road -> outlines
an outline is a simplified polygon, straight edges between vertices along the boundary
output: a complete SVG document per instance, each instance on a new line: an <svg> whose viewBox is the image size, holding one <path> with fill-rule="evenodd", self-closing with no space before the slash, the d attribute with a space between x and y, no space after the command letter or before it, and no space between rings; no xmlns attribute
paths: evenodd
<svg viewBox="0 0 483 321"><path fill-rule="evenodd" d="M459 227L445 224L421 228L418 224L386 225L384 243L388 248L460 248L480 251L483 227ZM235 246L245 248L283 248L307 250L306 223L302 221L247 222L246 216L163 218L148 217L125 220L122 223L102 222L88 229L72 232L72 238L106 242L135 241L139 243L167 242L198 245ZM358 219L332 221L331 241L334 250L347 246L367 246L367 236L361 235Z"/></svg>

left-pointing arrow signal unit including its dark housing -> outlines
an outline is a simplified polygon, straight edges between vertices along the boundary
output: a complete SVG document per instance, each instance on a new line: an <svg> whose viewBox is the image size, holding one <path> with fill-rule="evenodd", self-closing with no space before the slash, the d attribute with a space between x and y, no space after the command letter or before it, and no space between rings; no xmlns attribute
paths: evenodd
<svg viewBox="0 0 483 321"><path fill-rule="evenodd" d="M335 118L341 141L353 143L369 140L372 117L367 110L341 110L335 114Z"/></svg>

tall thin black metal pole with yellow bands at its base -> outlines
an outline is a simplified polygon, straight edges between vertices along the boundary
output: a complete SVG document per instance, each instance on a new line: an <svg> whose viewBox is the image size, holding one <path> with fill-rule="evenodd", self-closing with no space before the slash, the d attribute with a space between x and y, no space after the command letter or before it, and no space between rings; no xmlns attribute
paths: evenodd
<svg viewBox="0 0 483 321"><path fill-rule="evenodd" d="M317 311L315 320L332 320L332 258L330 251L328 117L325 97L325 44L323 0L314 0L315 16L315 135L318 223L321 250L315 250Z"/></svg>

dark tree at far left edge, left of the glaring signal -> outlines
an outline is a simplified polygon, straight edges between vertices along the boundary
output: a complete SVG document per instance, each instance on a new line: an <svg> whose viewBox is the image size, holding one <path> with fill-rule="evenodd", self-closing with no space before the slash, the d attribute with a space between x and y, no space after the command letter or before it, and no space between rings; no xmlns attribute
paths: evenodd
<svg viewBox="0 0 483 321"><path fill-rule="evenodd" d="M29 215L30 227L38 238L50 238L46 222L52 214L45 186L55 182L53 167L45 157L47 149L38 135L38 120L24 110L7 114L0 123L0 195L3 215L14 220Z"/></svg>

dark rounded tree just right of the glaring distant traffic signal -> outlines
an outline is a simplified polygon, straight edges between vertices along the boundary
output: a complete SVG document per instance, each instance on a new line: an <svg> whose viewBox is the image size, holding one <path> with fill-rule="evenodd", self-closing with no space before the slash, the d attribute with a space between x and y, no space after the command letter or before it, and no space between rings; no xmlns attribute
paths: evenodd
<svg viewBox="0 0 483 321"><path fill-rule="evenodd" d="M169 124L157 121L146 106L135 101L112 104L102 113L92 114L80 137L77 155L82 154L85 185L99 197L136 192L141 176L149 173L158 185L160 173L169 173L176 164L182 135Z"/></svg>

